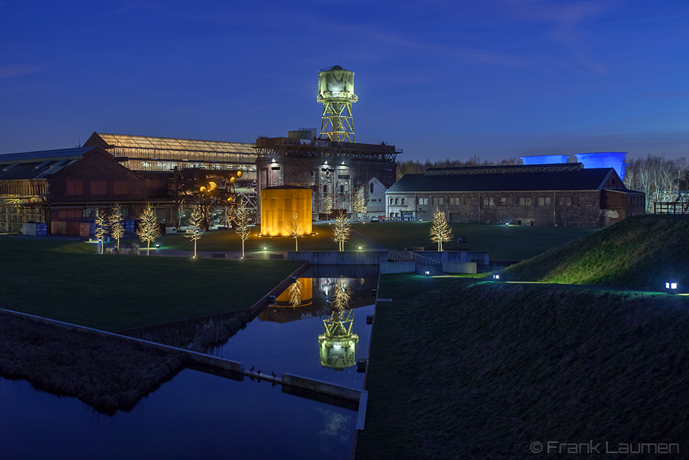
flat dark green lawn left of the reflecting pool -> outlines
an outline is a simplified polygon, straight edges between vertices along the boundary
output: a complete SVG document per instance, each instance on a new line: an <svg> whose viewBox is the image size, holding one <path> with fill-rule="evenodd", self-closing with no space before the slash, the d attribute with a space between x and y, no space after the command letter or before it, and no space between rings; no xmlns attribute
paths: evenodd
<svg viewBox="0 0 689 460"><path fill-rule="evenodd" d="M88 243L0 237L0 308L123 330L248 308L300 266L95 252Z"/></svg>

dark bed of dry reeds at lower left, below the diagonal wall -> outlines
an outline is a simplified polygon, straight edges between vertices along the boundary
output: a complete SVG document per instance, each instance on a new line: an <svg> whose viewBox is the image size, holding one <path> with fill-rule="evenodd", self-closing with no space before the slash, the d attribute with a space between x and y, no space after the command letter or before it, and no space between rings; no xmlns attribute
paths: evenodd
<svg viewBox="0 0 689 460"><path fill-rule="evenodd" d="M130 410L185 367L181 352L0 314L0 374L79 398L99 412Z"/></svg>

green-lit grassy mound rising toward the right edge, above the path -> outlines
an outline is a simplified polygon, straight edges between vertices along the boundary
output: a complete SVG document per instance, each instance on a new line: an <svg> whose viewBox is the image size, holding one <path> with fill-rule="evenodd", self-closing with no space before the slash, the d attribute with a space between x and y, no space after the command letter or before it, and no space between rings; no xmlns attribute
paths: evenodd
<svg viewBox="0 0 689 460"><path fill-rule="evenodd" d="M689 219L629 217L568 245L506 268L504 279L659 290L689 281Z"/></svg>

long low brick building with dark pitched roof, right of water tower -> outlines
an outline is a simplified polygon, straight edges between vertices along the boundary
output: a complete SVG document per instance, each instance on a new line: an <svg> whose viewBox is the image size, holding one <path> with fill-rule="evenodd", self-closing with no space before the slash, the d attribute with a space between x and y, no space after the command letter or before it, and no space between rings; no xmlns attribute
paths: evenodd
<svg viewBox="0 0 689 460"><path fill-rule="evenodd" d="M388 217L429 220L438 207L453 223L603 228L645 208L614 168L582 163L429 168L385 196Z"/></svg>

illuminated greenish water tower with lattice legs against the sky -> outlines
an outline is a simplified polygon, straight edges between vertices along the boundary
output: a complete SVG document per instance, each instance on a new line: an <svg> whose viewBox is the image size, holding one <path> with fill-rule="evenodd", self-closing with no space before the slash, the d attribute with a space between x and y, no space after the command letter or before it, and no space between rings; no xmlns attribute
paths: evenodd
<svg viewBox="0 0 689 460"><path fill-rule="evenodd" d="M320 134L331 141L356 142L351 104L354 94L354 72L332 66L318 72L318 99L323 104Z"/></svg>

